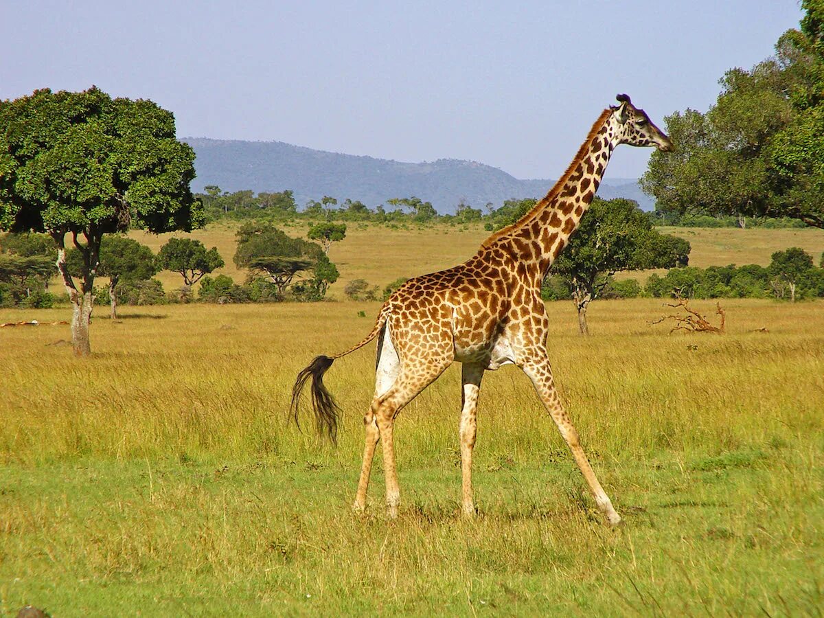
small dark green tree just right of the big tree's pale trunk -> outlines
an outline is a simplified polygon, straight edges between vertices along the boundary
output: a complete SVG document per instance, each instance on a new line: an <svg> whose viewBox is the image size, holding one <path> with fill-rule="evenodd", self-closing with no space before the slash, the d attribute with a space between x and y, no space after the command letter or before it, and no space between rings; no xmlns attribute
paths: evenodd
<svg viewBox="0 0 824 618"><path fill-rule="evenodd" d="M69 250L66 262L74 276L82 272L82 254L79 250ZM155 255L147 246L126 236L103 236L97 274L109 278L112 320L117 319L117 284L120 281L145 281L155 273Z"/></svg>

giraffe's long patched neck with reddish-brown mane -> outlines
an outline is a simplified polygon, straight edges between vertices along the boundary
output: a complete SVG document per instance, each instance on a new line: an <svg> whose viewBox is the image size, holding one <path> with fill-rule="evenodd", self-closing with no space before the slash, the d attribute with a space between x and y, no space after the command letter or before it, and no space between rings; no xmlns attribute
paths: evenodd
<svg viewBox="0 0 824 618"><path fill-rule="evenodd" d="M611 110L604 110L564 176L545 198L513 225L489 236L483 246L494 244L508 250L517 261L531 267L540 285L592 203L619 143L618 133Z"/></svg>

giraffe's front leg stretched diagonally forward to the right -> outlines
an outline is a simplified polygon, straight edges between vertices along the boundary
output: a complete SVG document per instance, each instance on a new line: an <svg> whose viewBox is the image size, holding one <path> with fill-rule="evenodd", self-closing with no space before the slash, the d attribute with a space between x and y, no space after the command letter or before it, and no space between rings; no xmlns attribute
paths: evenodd
<svg viewBox="0 0 824 618"><path fill-rule="evenodd" d="M598 508L604 513L611 526L617 526L620 523L620 516L616 513L615 508L612 508L612 502L609 496L606 495L601 483L598 482L595 472L592 471L592 466L589 465L587 456L583 452L581 442L578 439L578 432L572 424L572 419L569 418L569 414L564 410L564 406L561 405L558 391L555 389L555 382L552 379L552 368L550 367L549 359L545 357L533 358L526 363L522 363L521 368L527 376L529 376L532 384L535 385L535 389L538 391L538 395L541 396L546 410L550 413L552 420L555 421L555 425L564 438L564 442L567 443L569 450L572 452L575 463L578 464L583 478L587 481L587 485L589 485L589 490L592 492Z"/></svg>

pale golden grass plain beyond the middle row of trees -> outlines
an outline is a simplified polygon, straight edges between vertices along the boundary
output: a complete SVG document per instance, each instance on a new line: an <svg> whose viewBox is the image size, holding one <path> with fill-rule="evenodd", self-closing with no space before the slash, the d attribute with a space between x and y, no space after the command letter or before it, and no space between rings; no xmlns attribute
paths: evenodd
<svg viewBox="0 0 824 618"><path fill-rule="evenodd" d="M236 283L243 283L246 271L236 268L232 262L235 255L235 229L232 225L212 225L190 236L204 242L207 247L217 246L226 266L216 274L227 274ZM290 236L300 236L306 227L285 227ZM662 232L675 234L691 242L690 264L706 268L711 265L760 264L768 265L770 255L791 246L800 246L816 260L824 251L824 230L749 228L740 230L732 227L720 229L664 227ZM385 286L399 277L414 277L418 274L460 264L475 255L480 243L489 236L480 224L466 226L436 225L409 229L393 228L367 223L349 222L346 238L336 242L330 250L330 260L340 271L340 279L330 287L330 294L344 297L344 287L352 279L366 279L373 285ZM145 232L130 233L138 241L157 251L166 244L171 234L159 236ZM663 272L663 271L658 271ZM626 273L620 277L635 277L645 280L648 273ZM180 288L183 283L179 274L168 271L157 275L166 290Z"/></svg>

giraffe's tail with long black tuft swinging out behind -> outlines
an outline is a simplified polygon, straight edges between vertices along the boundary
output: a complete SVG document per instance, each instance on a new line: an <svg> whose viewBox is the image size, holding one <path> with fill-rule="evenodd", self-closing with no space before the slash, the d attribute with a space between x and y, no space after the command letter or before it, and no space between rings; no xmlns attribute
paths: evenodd
<svg viewBox="0 0 824 618"><path fill-rule="evenodd" d="M372 328L372 331L358 344L353 345L345 352L337 353L334 356L324 356L322 354L321 356L316 356L312 362L309 363L307 368L302 369L302 371L297 374L297 380L295 380L295 385L292 387L292 404L289 407L298 428L300 428L300 424L297 419L297 409L300 404L301 393L304 386L306 386L307 382L309 382L309 378L311 378L311 407L312 411L315 413L315 424L317 426L317 431L321 434L321 436L324 434L329 436L332 443L337 444L338 416L340 414L340 408L335 403L335 398L332 397L331 393L324 385L323 376L332 366L332 363L335 362L335 358L346 356L347 354L354 352L356 349L362 348L364 345L372 341L372 339L375 339L377 334L381 332L383 326L386 324L388 317L389 303L386 302L383 307L381 307L381 311L377 316L377 321L375 321L375 326Z"/></svg>

